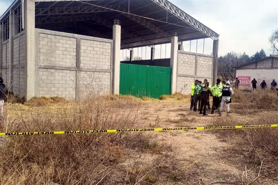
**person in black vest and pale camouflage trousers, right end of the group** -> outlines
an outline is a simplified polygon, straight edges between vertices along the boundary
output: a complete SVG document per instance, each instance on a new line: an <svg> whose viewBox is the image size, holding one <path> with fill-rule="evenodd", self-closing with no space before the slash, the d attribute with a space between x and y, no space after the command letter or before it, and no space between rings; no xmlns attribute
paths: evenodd
<svg viewBox="0 0 278 185"><path fill-rule="evenodd" d="M230 82L226 83L226 87L223 87L222 89L222 100L221 100L221 105L220 105L220 116L221 112L224 108L224 104L226 104L226 111L227 111L227 116L230 113L230 103L231 103L231 96L234 94L233 89L230 87Z"/></svg>

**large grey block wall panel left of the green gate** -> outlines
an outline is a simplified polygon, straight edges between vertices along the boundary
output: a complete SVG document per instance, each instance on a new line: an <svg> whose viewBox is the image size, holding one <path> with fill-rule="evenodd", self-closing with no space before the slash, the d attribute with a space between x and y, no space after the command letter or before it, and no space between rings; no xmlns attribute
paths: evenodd
<svg viewBox="0 0 278 185"><path fill-rule="evenodd" d="M35 32L35 96L78 100L88 92L111 93L113 40Z"/></svg>

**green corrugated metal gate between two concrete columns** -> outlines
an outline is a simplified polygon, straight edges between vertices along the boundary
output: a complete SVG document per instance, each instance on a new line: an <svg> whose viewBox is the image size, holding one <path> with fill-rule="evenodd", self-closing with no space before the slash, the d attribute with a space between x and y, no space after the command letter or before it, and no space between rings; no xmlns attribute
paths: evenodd
<svg viewBox="0 0 278 185"><path fill-rule="evenodd" d="M171 94L171 67L120 64L120 94L158 98Z"/></svg>

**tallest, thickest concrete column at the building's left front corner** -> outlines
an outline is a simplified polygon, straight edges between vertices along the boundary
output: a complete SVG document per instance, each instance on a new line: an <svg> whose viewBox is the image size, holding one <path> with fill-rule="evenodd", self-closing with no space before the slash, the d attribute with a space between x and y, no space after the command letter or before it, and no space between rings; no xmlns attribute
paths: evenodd
<svg viewBox="0 0 278 185"><path fill-rule="evenodd" d="M35 96L35 2L24 1L25 101Z"/></svg>

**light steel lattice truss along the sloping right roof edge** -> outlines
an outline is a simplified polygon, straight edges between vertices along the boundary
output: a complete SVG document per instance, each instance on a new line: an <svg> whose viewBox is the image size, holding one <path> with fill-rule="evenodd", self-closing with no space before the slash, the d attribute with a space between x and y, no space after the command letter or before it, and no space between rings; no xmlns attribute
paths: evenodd
<svg viewBox="0 0 278 185"><path fill-rule="evenodd" d="M209 29L208 27L206 27L205 25L203 25L202 23L200 23L199 21L197 21L196 19L194 19L190 15L186 14L185 12L180 10L178 7L176 7L175 5L170 3L169 1L167 1L167 0L151 0L151 1L156 3L157 5L159 5L160 7L164 8L165 10L169 11L173 15L177 16L182 21L191 25L193 28L199 30L200 32L202 32L206 36L212 38L213 40L218 39L219 34L212 31L211 29Z"/></svg>

